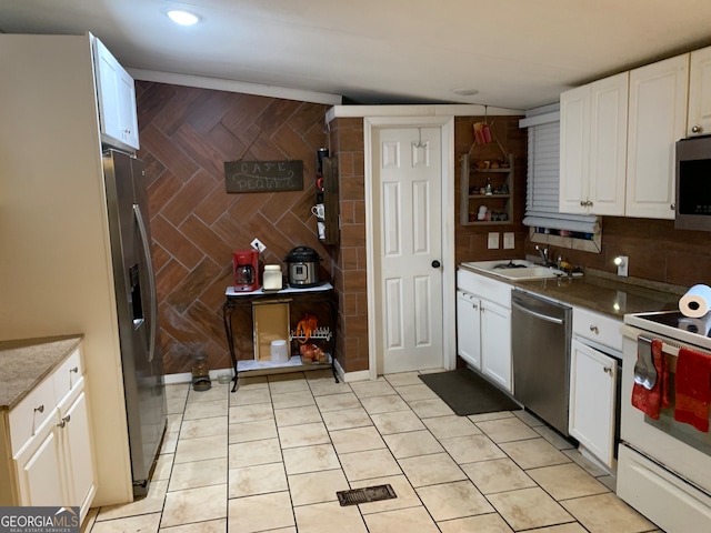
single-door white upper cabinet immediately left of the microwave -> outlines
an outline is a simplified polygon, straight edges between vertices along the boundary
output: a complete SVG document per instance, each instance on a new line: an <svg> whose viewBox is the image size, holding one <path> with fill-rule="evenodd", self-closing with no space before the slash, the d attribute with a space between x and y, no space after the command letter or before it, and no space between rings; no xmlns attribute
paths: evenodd
<svg viewBox="0 0 711 533"><path fill-rule="evenodd" d="M624 214L674 218L674 144L687 131L689 54L630 72Z"/></svg>

